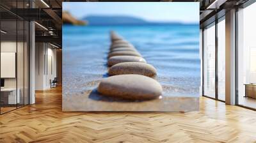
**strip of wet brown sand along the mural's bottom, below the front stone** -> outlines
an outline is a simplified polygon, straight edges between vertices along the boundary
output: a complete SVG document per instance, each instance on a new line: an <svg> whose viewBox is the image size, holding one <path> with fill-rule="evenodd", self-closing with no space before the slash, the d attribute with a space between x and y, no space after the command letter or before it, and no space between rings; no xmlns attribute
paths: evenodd
<svg viewBox="0 0 256 143"><path fill-rule="evenodd" d="M63 96L63 111L192 111L199 109L198 97L170 97L148 101L128 101L106 98L89 90Z"/></svg>

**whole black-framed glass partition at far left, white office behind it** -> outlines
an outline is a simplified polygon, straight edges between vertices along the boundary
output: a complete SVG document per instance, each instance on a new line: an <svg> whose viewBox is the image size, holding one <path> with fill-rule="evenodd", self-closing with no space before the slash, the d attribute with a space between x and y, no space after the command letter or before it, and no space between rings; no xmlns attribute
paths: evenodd
<svg viewBox="0 0 256 143"><path fill-rule="evenodd" d="M16 8L25 6L24 1L12 4ZM29 22L1 7L0 30L0 114L3 114L29 104Z"/></svg>

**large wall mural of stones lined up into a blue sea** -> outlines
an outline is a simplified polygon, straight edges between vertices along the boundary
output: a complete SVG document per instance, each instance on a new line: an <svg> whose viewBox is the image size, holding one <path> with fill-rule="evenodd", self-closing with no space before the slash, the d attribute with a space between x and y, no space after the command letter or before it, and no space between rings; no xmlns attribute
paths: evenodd
<svg viewBox="0 0 256 143"><path fill-rule="evenodd" d="M199 3L63 3L63 111L198 110Z"/></svg>

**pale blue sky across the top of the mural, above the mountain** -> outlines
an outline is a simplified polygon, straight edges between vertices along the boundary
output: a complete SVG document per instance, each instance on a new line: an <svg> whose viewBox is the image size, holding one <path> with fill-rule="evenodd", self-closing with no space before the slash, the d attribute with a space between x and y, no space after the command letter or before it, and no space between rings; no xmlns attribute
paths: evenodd
<svg viewBox="0 0 256 143"><path fill-rule="evenodd" d="M199 3L63 2L63 10L79 19L86 15L129 15L151 21L199 22Z"/></svg>

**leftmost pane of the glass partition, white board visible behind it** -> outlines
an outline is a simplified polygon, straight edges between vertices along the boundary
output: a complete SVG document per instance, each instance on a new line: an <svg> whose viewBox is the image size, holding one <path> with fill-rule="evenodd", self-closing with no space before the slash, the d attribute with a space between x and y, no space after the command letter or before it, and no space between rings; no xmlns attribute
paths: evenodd
<svg viewBox="0 0 256 143"><path fill-rule="evenodd" d="M17 21L1 21L1 113L16 109L17 96Z"/></svg>

